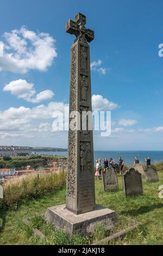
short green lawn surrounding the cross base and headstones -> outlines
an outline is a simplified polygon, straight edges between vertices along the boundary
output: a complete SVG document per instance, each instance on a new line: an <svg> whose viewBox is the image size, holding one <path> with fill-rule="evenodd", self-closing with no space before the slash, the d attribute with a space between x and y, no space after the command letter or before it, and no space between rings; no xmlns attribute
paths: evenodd
<svg viewBox="0 0 163 256"><path fill-rule="evenodd" d="M122 178L118 177L120 190L118 192L103 192L102 181L96 180L96 203L113 209L118 214L118 227L110 234L126 227L129 217L140 221L140 228L130 231L122 239L109 242L111 245L163 245L163 199L159 198L159 186L163 185L163 170L158 172L159 182L148 184L143 180L143 196L126 198L123 194ZM0 214L0 244L1 245L39 245L39 244L88 244L89 237L73 236L68 240L63 232L52 231L51 225L45 225L41 217L35 217L36 223L26 226L22 223L24 218L39 216L45 213L48 206L65 203L65 187L49 192L39 199L29 200L17 210L1 212ZM41 240L32 234L32 226L37 225L48 237L48 241ZM97 227L92 239L102 239L105 229ZM101 234L101 235L100 235Z"/></svg>

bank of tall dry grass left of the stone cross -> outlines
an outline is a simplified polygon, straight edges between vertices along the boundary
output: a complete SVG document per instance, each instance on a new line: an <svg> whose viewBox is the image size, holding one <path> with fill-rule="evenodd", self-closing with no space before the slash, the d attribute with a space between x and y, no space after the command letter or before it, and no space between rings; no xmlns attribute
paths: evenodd
<svg viewBox="0 0 163 256"><path fill-rule="evenodd" d="M37 199L49 191L59 190L65 185L65 177L65 172L59 174L34 172L16 176L3 185L4 199L0 199L0 209L16 210L20 204L27 202L27 200Z"/></svg>

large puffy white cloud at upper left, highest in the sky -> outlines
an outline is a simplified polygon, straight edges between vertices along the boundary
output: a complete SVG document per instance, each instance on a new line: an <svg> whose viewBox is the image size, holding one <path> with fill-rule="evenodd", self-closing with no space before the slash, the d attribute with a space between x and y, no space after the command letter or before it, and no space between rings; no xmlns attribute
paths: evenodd
<svg viewBox="0 0 163 256"><path fill-rule="evenodd" d="M0 71L26 73L29 70L46 71L57 57L55 40L48 33L35 33L22 27L4 33L3 57Z"/></svg>

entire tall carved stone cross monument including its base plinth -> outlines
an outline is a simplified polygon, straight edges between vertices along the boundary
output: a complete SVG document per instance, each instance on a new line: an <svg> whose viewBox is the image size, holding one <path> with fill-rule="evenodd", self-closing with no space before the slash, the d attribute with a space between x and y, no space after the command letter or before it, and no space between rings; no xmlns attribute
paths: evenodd
<svg viewBox="0 0 163 256"><path fill-rule="evenodd" d="M73 231L92 233L99 222L110 229L115 222L115 211L95 204L93 135L87 117L83 129L83 113L92 111L88 42L94 39L94 32L85 24L86 16L80 13L75 21L68 20L66 23L66 32L76 35L71 47L66 205L48 208L45 215L47 221L69 234ZM79 119L76 119L77 129L71 129L74 112L80 113Z"/></svg>

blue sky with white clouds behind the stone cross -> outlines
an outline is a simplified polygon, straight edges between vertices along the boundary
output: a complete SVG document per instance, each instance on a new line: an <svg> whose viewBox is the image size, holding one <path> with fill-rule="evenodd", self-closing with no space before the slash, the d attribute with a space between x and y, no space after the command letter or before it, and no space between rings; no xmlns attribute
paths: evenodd
<svg viewBox="0 0 163 256"><path fill-rule="evenodd" d="M67 147L51 112L68 105L74 36L65 23L80 12L95 31L92 104L111 110L111 136L95 132L95 149L163 150L162 8L161 0L1 0L0 144Z"/></svg>

